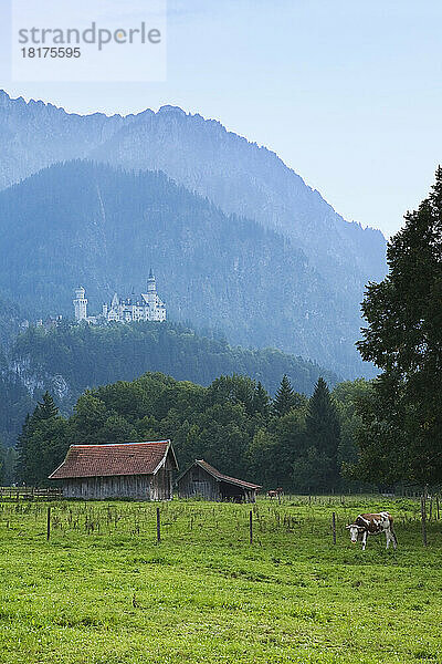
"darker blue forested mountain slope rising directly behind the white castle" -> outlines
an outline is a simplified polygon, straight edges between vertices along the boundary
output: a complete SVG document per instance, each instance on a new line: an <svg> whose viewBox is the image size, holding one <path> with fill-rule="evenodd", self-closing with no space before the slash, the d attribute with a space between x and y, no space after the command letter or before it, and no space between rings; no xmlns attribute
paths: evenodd
<svg viewBox="0 0 442 664"><path fill-rule="evenodd" d="M358 311L299 249L161 174L53 166L0 193L0 295L35 318L72 314L80 283L97 312L115 290L141 290L152 266L171 320L361 372Z"/></svg>

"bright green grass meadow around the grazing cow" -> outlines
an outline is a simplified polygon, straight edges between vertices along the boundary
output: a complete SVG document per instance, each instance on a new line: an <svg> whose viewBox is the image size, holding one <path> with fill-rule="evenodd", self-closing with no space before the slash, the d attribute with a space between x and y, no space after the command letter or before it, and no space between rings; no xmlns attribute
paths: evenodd
<svg viewBox="0 0 442 664"><path fill-rule="evenodd" d="M0 662L442 662L441 522L411 500L0 504ZM399 549L345 523L389 509ZM337 544L332 543L332 511Z"/></svg>

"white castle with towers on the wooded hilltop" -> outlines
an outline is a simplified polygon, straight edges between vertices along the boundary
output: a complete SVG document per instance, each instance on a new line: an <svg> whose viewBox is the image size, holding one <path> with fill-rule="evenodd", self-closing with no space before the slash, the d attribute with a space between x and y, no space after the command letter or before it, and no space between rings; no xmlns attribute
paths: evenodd
<svg viewBox="0 0 442 664"><path fill-rule="evenodd" d="M157 283L150 270L147 280L147 293L120 298L114 294L108 304L103 304L101 315L87 315L86 291L83 287L75 289L73 301L75 320L87 323L98 323L99 320L130 323L133 321L165 321L166 305L157 294Z"/></svg>

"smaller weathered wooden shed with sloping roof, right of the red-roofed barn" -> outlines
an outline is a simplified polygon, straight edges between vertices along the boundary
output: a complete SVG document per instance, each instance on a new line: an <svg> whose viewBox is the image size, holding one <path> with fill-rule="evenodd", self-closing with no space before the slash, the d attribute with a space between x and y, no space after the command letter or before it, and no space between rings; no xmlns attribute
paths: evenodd
<svg viewBox="0 0 442 664"><path fill-rule="evenodd" d="M180 498L254 502L260 485L223 475L203 459L196 460L176 481Z"/></svg>

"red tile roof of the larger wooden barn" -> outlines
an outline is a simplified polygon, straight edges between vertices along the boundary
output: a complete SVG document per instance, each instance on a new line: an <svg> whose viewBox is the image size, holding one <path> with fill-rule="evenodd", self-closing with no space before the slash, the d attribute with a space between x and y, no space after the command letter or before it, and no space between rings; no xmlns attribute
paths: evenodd
<svg viewBox="0 0 442 664"><path fill-rule="evenodd" d="M150 475L162 465L169 449L177 465L170 440L71 445L66 458L49 479Z"/></svg>

